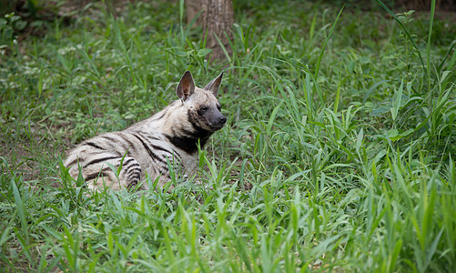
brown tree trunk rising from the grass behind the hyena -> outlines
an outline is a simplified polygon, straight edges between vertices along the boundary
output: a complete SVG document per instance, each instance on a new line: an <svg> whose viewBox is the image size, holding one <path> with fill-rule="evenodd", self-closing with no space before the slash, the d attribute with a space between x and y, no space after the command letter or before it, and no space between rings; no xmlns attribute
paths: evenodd
<svg viewBox="0 0 456 273"><path fill-rule="evenodd" d="M225 53L222 46L225 47L228 55L231 55L232 49L228 39L233 34L231 26L234 23L233 1L232 0L187 0L187 24L190 23L198 12L203 10L199 15L196 25L203 27L203 39L207 36L207 48L212 49L212 59L224 60ZM217 37L218 39L217 39Z"/></svg>

